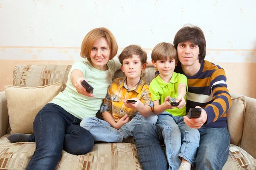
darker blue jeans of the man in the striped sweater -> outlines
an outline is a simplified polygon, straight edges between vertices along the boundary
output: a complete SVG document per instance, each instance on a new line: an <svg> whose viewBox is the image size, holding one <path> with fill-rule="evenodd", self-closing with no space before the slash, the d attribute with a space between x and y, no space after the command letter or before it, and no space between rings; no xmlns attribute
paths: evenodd
<svg viewBox="0 0 256 170"><path fill-rule="evenodd" d="M198 170L221 170L229 154L230 136L227 127L201 127L200 145L195 164ZM160 140L159 127L148 123L134 127L134 141L143 170L166 170L168 163Z"/></svg>

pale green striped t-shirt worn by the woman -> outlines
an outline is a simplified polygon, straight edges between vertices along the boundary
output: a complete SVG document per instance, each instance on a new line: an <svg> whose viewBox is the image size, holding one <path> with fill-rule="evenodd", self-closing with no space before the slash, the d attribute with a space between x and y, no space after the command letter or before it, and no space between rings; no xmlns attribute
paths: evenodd
<svg viewBox="0 0 256 170"><path fill-rule="evenodd" d="M87 59L76 60L70 69L67 87L63 92L55 96L51 103L61 106L79 119L95 117L106 97L115 71L119 70L121 66L120 62L115 59L109 60L107 65L108 70L100 71L94 68ZM87 97L77 93L70 80L71 72L76 69L83 72L84 78L93 87L94 97Z"/></svg>

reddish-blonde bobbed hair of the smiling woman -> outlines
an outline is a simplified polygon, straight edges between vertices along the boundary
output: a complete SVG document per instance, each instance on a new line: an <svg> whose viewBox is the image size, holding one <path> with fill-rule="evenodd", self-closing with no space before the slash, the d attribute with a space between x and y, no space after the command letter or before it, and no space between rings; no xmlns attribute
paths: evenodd
<svg viewBox="0 0 256 170"><path fill-rule="evenodd" d="M96 42L96 40L98 40L101 37L104 37L108 43L110 52L109 59L113 59L113 57L115 57L117 54L118 45L112 32L104 27L95 28L86 34L81 45L81 57L90 60L90 53L93 48L93 45Z"/></svg>

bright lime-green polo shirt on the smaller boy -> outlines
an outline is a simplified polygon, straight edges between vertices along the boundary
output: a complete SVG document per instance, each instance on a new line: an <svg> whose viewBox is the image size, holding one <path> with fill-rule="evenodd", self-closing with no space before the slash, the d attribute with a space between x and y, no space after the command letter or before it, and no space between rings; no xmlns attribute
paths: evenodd
<svg viewBox="0 0 256 170"><path fill-rule="evenodd" d="M172 78L169 83L164 82L160 78L160 75L158 75L151 81L149 85L149 91L151 93L152 101L154 102L155 100L159 100L159 104L161 105L167 96L175 97L175 99L177 99L178 85L180 83L186 84L186 92L188 92L187 79L185 75L173 72ZM186 101L186 96L184 97L184 99ZM186 106L180 109L167 109L166 112L171 113L173 116L185 116Z"/></svg>

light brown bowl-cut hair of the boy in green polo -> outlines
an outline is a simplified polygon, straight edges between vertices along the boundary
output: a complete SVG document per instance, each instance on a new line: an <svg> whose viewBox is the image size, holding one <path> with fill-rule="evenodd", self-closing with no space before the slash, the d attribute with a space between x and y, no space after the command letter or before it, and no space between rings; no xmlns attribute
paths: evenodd
<svg viewBox="0 0 256 170"><path fill-rule="evenodd" d="M168 58L178 60L176 48L169 42L158 43L152 50L151 59L157 62L157 60L167 60Z"/></svg>

